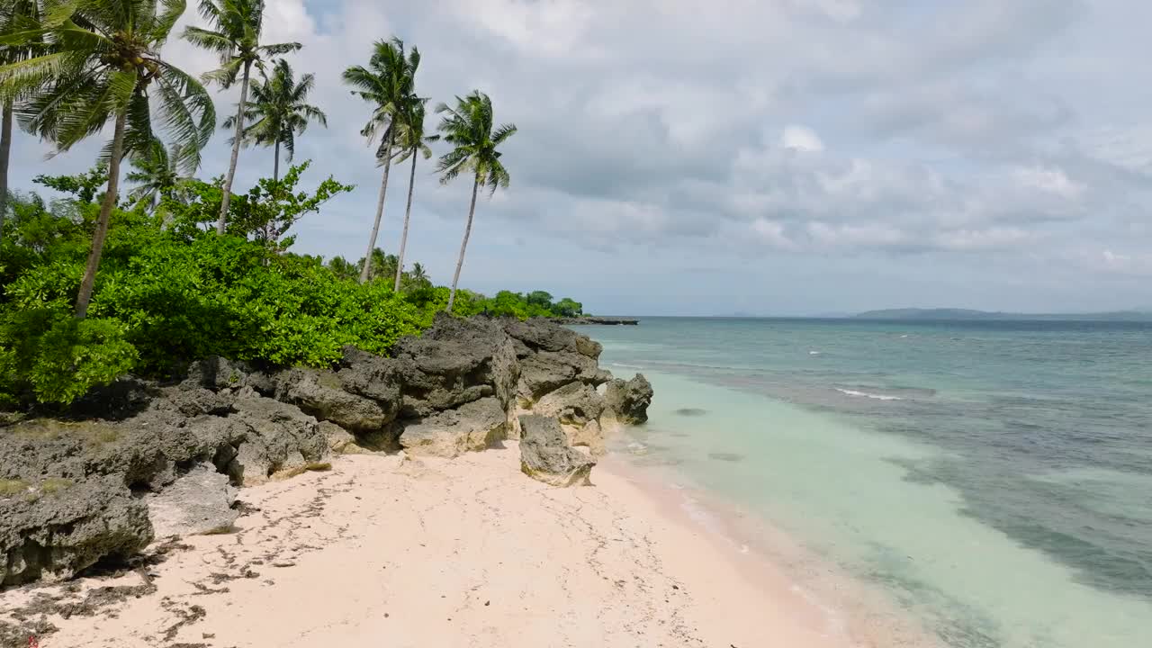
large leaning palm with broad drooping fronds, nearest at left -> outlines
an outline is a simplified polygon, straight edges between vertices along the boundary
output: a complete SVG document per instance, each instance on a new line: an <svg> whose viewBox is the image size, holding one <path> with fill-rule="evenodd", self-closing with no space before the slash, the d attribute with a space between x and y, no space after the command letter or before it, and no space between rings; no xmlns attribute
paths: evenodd
<svg viewBox="0 0 1152 648"><path fill-rule="evenodd" d="M112 142L92 250L76 295L83 318L92 297L108 220L116 205L120 161L156 140L153 112L180 145L181 166L199 166L199 152L215 128L207 90L190 75L160 59L160 45L184 13L184 0L69 0L65 12L45 12L29 37L51 43L48 52L0 66L0 95L28 96L16 113L30 133L67 151L112 121Z"/></svg>

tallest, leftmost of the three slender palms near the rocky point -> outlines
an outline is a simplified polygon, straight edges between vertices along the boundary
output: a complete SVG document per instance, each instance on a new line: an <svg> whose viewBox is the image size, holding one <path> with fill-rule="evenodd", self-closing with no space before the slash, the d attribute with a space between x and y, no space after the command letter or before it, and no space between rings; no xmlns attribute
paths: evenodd
<svg viewBox="0 0 1152 648"><path fill-rule="evenodd" d="M361 135L367 137L370 145L376 141L376 136L380 135L380 148L377 149L376 159L384 165L380 198L376 204L376 220L372 223L372 235L369 236L365 263L361 270L362 284L367 281L372 272L372 250L376 249L376 238L380 233L380 219L384 217L384 199L388 194L388 172L392 169L397 126L402 119L403 107L415 96L412 83L419 65L419 51L412 47L406 58L404 42L393 38L391 42L376 42L367 68L353 66L343 74L344 83L355 88L353 95L376 105L372 119L361 130Z"/></svg>

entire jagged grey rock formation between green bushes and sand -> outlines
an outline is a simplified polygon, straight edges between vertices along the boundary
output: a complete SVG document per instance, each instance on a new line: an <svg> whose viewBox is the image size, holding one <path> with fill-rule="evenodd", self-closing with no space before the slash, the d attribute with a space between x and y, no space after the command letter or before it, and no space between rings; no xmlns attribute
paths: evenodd
<svg viewBox="0 0 1152 648"><path fill-rule="evenodd" d="M613 380L600 352L548 321L440 315L392 357L348 347L331 370L211 357L179 384L123 378L77 402L75 421L0 428L0 586L226 530L232 489L332 453L456 457L523 434L525 473L586 483L596 461L571 446L602 453L601 421L642 422L652 397L641 376Z"/></svg>

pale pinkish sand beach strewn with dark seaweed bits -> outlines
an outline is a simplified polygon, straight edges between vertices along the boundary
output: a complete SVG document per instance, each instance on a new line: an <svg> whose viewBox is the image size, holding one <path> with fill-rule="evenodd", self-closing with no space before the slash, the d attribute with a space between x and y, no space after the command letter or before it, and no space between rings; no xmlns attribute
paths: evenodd
<svg viewBox="0 0 1152 648"><path fill-rule="evenodd" d="M244 489L236 532L116 577L0 594L127 594L48 615L45 648L852 645L771 564L718 541L611 464L593 487L520 473L518 449L455 460L343 457ZM100 588L130 587L108 590ZM106 596L108 597L108 596ZM12 619L9 618L9 621Z"/></svg>

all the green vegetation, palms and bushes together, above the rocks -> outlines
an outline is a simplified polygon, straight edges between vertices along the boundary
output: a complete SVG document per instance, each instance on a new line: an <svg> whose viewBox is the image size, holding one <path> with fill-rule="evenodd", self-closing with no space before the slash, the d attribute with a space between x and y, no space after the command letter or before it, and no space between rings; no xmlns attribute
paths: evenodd
<svg viewBox="0 0 1152 648"><path fill-rule="evenodd" d="M366 66L343 70L371 116L381 187L365 254L356 261L293 251L297 226L356 188L332 176L302 189L310 163L281 174L310 123L312 74L282 58L300 44L264 44L263 0L200 0L207 27L183 37L220 56L195 78L160 55L184 0L8 0L0 7L0 404L69 402L124 372L179 374L223 355L270 366L327 366L346 345L386 353L441 310L469 316L578 316L581 303L536 291L493 297L458 287L480 188L507 188L497 126L480 91L439 105L439 135L425 131L429 99L416 93L420 53L399 38L373 45ZM238 85L232 157L202 180L202 151L217 128L202 83ZM7 187L18 126L56 152L111 127L94 166L40 175L35 190ZM472 180L450 286L406 264L416 167L431 146L444 183ZM273 149L272 174L234 190L240 149ZM122 174L127 161L130 169ZM379 246L393 163L410 163L396 254ZM130 184L121 191L121 175ZM51 194L45 194L51 191ZM46 197L47 196L47 197ZM56 196L56 197L51 197Z"/></svg>

